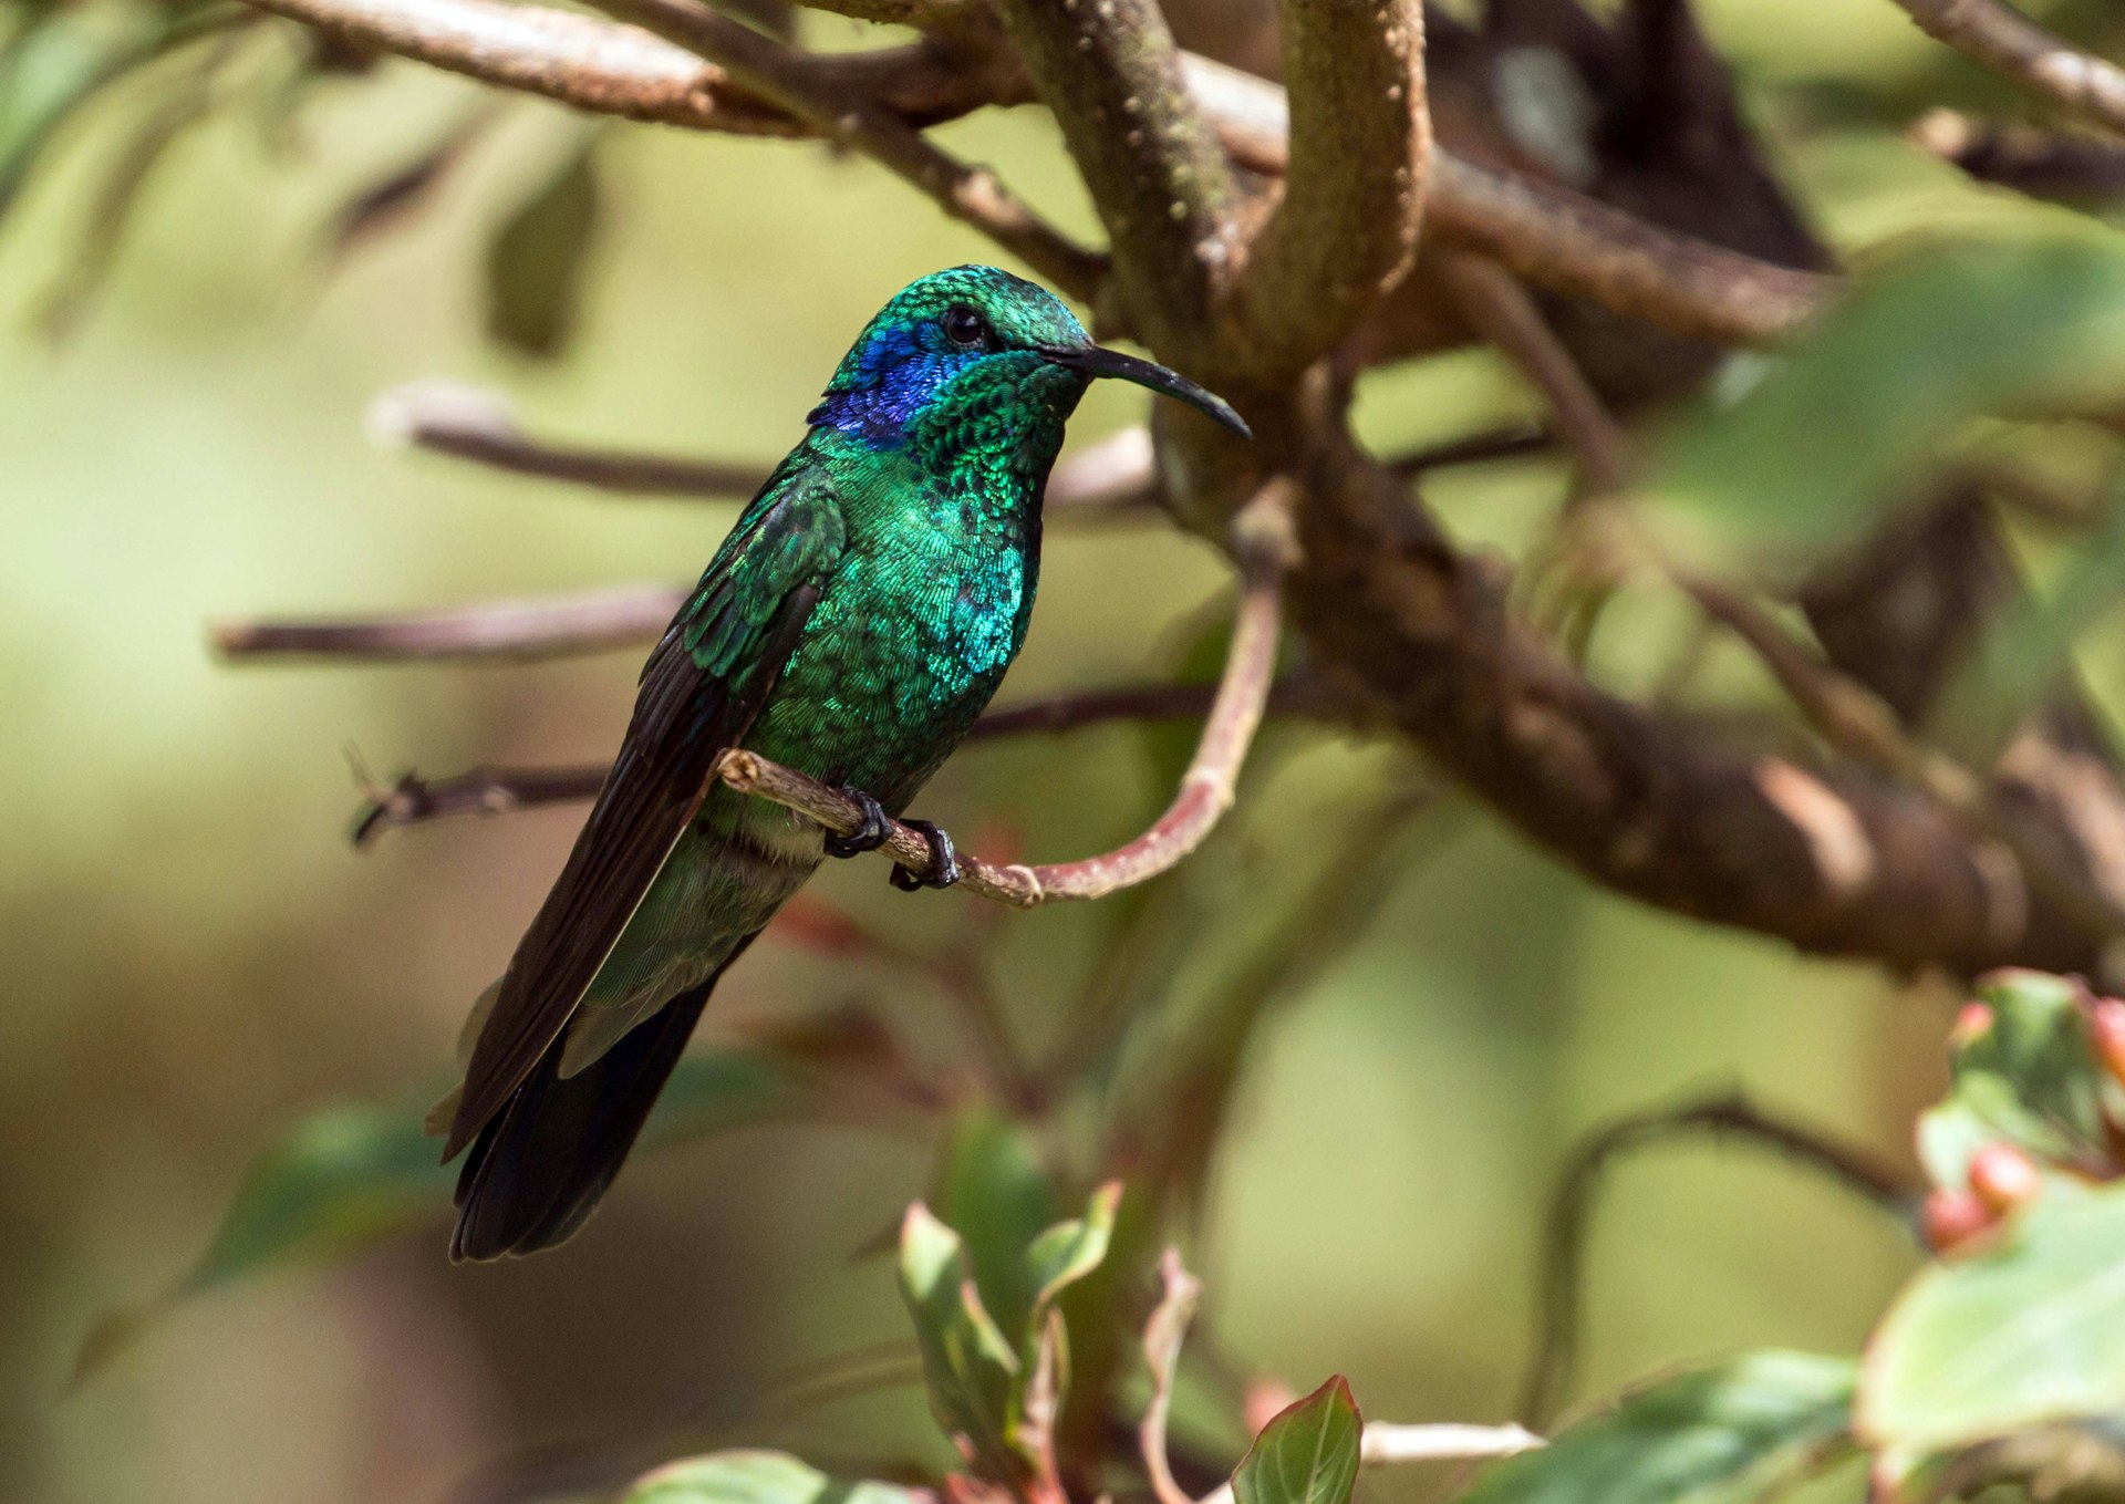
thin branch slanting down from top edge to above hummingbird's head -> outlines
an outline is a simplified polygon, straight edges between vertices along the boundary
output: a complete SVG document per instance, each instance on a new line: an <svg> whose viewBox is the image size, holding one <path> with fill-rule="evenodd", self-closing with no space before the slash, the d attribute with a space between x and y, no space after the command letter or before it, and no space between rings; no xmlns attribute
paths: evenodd
<svg viewBox="0 0 2125 1504"><path fill-rule="evenodd" d="M795 115L824 140L905 178L946 215L973 225L1073 297L1090 300L1099 289L1105 257L1071 244L988 168L971 168L933 147L890 104L818 79L814 59L695 0L601 0L601 8L727 68L752 93ZM971 70L971 64L963 68Z"/></svg>

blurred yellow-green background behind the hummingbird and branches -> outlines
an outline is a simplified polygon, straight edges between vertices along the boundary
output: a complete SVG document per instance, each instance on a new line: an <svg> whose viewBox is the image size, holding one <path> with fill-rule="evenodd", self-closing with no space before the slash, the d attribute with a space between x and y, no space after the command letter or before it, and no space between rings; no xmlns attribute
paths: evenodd
<svg viewBox="0 0 2125 1504"><path fill-rule="evenodd" d="M1840 251L2027 212L1889 130L1808 115L1830 85L1938 68L1891 6L1702 8ZM824 42L852 36L820 25ZM644 1156L580 1241L527 1264L448 1266L438 1200L419 1232L351 1262L185 1304L64 1394L98 1313L181 1275L280 1126L344 1098L412 1113L440 1090L463 1009L580 818L461 822L357 854L342 748L423 771L601 756L638 663L223 667L204 625L688 580L733 514L385 452L363 438L368 401L444 374L508 391L544 431L774 459L884 295L988 255L865 164L620 130L582 334L567 361L512 359L480 331L484 227L576 149L580 121L510 106L414 227L332 274L317 255L357 185L474 100L391 66L323 91L291 147L242 115L204 125L57 346L36 314L117 117L68 138L0 244L4 1500L434 1500L525 1449L638 1447L665 1415L820 1462L926 1434L912 1387L752 1415L793 1364L905 1334L886 1262L861 1253L924 1192L931 1147L820 1126ZM1035 113L944 138L1090 234ZM1528 410L1488 357L1383 372L1360 397L1383 446ZM1073 446L1139 416L1139 393L1099 391ZM1511 550L1560 484L1551 465L1502 465L1430 499L1458 535ZM1222 580L1156 523L1056 529L1005 701L1171 671ZM1674 648L1658 610L1613 631L1615 673ZM1734 673L1736 695L1755 690ZM1156 756L1128 729L971 748L922 814L963 835L1007 820L1035 856L1075 856L1154 809ZM1386 769L1379 750L1284 735L1247 792L1290 818L1201 856L1188 882L1205 933L1245 935L1273 911ZM1222 1349L1250 1370L1300 1387L1347 1372L1375 1417L1500 1419L1534 1326L1543 1202L1575 1139L1747 1088L1904 1156L1955 998L1604 896L1451 801L1420 824L1377 920L1256 1041L1194 1266ZM969 903L892 894L876 862L816 890L916 935ZM1109 920L990 918L1018 1026L1052 1039ZM769 937L703 1037L865 988ZM895 1007L935 1024L920 988ZM1851 1351L1912 1262L1889 1219L1755 1151L1653 1153L1598 1219L1579 1391L1745 1345Z"/></svg>

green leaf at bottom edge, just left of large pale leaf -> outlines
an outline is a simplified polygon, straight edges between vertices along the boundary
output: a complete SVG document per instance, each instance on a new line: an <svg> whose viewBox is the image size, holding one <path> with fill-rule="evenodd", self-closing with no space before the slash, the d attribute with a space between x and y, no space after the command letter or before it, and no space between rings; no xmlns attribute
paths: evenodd
<svg viewBox="0 0 2125 1504"><path fill-rule="evenodd" d="M1847 1447L1853 1377L1766 1351L1662 1379L1485 1468L1462 1504L1751 1504Z"/></svg>

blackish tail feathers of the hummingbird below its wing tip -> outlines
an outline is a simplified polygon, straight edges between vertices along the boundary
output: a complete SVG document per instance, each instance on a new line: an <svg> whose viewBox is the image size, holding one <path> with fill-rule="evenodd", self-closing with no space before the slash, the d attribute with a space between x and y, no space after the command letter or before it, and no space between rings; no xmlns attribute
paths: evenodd
<svg viewBox="0 0 2125 1504"><path fill-rule="evenodd" d="M620 1173L714 986L710 977L680 992L576 1075L561 1075L565 1032L546 1047L472 1141L457 1177L453 1260L536 1253L584 1224Z"/></svg>

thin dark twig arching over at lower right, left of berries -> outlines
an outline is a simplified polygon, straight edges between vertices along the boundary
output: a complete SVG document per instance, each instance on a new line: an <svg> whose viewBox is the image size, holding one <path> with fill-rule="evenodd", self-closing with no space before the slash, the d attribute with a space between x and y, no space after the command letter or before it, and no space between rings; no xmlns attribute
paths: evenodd
<svg viewBox="0 0 2125 1504"><path fill-rule="evenodd" d="M1572 1153L1549 1202L1543 1232L1541 1328L1519 1402L1519 1417L1530 1425L1549 1421L1570 1381L1579 1343L1587 1226L1602 1173L1621 1153L1687 1132L1732 1134L1745 1143L1766 1145L1898 1215L1910 1215L1923 1196L1923 1185L1915 1177L1878 1160L1870 1149L1838 1143L1813 1128L1764 1113L1740 1096L1640 1113L1602 1128Z"/></svg>

